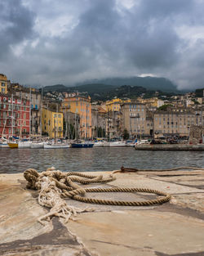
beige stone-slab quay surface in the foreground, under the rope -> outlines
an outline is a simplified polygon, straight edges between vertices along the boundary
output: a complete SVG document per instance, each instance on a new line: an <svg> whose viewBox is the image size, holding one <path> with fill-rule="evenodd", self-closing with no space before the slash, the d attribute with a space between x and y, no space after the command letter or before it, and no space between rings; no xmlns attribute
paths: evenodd
<svg viewBox="0 0 204 256"><path fill-rule="evenodd" d="M87 173L87 172L86 172ZM90 173L91 174L91 173ZM94 175L109 172L98 172ZM115 173L116 180L93 187L140 187L172 195L155 206L67 204L95 209L78 213L64 224L52 218L42 226L38 218L48 212L38 204L38 191L28 190L23 173L0 174L1 255L195 255L204 254L204 172ZM144 193L91 193L109 200L152 200Z"/></svg>

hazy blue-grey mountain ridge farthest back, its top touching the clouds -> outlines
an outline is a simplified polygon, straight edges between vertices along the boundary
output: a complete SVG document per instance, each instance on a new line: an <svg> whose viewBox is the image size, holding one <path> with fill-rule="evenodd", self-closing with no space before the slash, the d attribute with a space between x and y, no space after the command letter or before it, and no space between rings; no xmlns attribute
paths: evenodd
<svg viewBox="0 0 204 256"><path fill-rule="evenodd" d="M156 78L156 77L130 77L130 78L110 78L110 79L93 79L86 82L78 83L84 84L105 84L112 86L131 85L143 87L149 90L162 91L162 92L177 92L176 85L169 79Z"/></svg>

